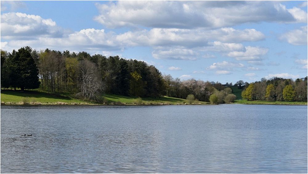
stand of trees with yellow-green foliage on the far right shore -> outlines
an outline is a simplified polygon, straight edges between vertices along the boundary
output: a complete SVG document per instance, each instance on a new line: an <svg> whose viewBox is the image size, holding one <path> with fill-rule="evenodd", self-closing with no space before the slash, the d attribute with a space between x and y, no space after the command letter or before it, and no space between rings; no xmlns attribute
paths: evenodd
<svg viewBox="0 0 308 174"><path fill-rule="evenodd" d="M262 78L261 81L247 85L242 91L242 98L250 101L307 102L307 77L295 81L279 77L269 80Z"/></svg>

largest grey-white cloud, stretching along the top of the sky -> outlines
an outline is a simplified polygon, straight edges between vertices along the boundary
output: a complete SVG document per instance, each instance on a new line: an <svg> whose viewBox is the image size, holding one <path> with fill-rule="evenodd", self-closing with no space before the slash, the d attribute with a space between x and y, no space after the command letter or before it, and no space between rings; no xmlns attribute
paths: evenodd
<svg viewBox="0 0 308 174"><path fill-rule="evenodd" d="M117 1L96 3L94 20L109 28L220 28L247 22L306 22L304 10L275 1ZM252 10L253 9L253 10Z"/></svg>

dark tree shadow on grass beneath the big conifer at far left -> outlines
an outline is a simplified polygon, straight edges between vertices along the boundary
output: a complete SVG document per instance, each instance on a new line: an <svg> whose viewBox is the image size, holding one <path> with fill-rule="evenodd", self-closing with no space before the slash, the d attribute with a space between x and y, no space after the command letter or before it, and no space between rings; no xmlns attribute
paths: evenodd
<svg viewBox="0 0 308 174"><path fill-rule="evenodd" d="M2 94L7 94L7 95L14 95L14 96L18 96L18 97L35 97L35 98L41 98L41 97L45 97L45 98L53 98L53 99L65 99L65 100L72 100L70 97L68 96L63 96L60 94L54 94L54 93L45 93L45 92L38 92L38 91L21 91L21 90L10 90L10 89L6 89L6 90L1 90Z"/></svg>

